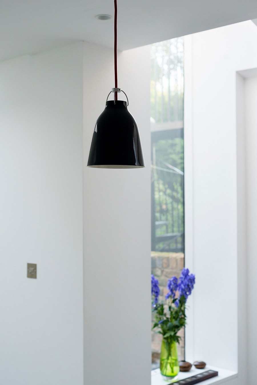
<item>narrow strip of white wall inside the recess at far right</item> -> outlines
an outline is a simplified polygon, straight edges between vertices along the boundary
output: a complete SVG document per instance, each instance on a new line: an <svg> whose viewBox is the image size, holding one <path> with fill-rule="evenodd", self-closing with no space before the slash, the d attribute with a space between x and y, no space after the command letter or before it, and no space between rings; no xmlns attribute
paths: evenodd
<svg viewBox="0 0 257 385"><path fill-rule="evenodd" d="M248 384L255 385L257 355L257 77L245 79Z"/></svg>

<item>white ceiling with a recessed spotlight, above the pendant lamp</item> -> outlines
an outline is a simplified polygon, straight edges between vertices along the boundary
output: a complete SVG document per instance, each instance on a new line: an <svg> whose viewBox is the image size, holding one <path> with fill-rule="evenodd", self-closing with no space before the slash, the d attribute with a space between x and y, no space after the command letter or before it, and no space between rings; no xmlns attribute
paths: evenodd
<svg viewBox="0 0 257 385"><path fill-rule="evenodd" d="M113 47L113 0L2 0L0 60L77 40ZM257 0L118 0L118 49L125 50L257 18Z"/></svg>

